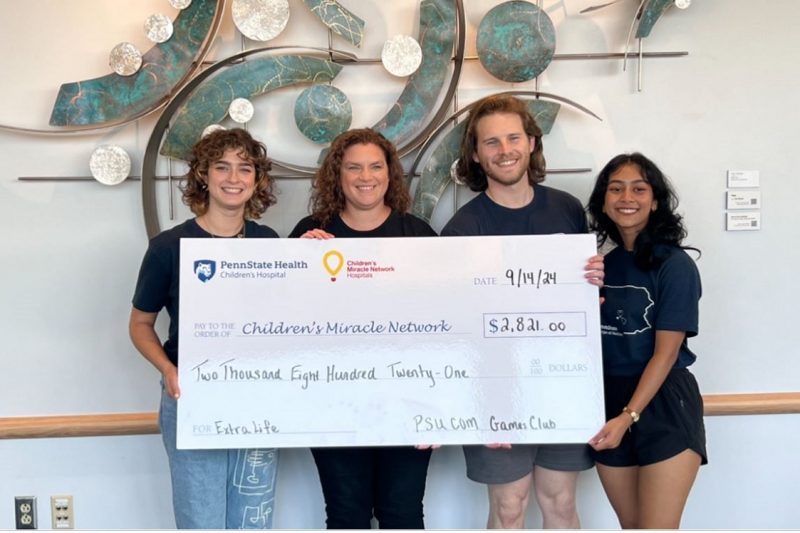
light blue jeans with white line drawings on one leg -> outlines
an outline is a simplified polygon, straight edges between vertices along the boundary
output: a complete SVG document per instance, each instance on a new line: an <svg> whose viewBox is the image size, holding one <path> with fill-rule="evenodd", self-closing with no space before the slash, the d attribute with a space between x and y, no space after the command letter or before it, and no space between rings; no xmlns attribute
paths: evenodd
<svg viewBox="0 0 800 533"><path fill-rule="evenodd" d="M161 393L159 425L178 529L269 529L278 450L178 450L178 403Z"/></svg>

